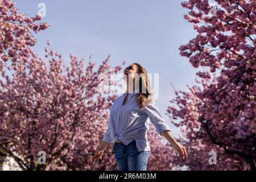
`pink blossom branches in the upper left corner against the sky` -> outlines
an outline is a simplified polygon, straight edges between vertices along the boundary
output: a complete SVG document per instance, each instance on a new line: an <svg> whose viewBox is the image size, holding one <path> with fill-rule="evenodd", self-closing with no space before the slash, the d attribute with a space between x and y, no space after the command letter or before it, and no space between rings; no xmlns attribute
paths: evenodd
<svg viewBox="0 0 256 182"><path fill-rule="evenodd" d="M32 33L49 27L47 23L37 23L41 19L39 14L35 17L19 14L15 2L0 0L0 68L9 60L12 63L27 61L30 47L36 43Z"/></svg>

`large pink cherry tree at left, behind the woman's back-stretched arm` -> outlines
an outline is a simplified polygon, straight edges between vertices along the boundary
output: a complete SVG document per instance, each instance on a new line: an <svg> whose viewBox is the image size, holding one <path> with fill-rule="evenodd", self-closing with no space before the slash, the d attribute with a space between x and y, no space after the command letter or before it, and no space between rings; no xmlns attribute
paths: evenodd
<svg viewBox="0 0 256 182"><path fill-rule="evenodd" d="M85 68L84 59L72 54L71 66L65 67L50 47L46 57L32 52L29 60L13 66L12 77L2 71L0 151L24 170L90 169L92 158L83 156L96 150L116 98L98 92L98 85L108 84L109 57L97 71L92 61ZM38 163L39 151L46 152L47 165ZM106 150L98 169L114 167L112 152Z"/></svg>

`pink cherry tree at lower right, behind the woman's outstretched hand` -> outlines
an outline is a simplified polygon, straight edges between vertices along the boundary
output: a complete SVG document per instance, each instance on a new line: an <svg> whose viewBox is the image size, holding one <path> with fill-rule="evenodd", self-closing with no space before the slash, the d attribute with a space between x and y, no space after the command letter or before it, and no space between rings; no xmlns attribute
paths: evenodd
<svg viewBox="0 0 256 182"><path fill-rule="evenodd" d="M167 109L171 122L181 129L179 141L189 154L185 162L173 159L173 165L184 165L190 170L255 169L255 133L242 119L230 121L221 129L207 119L203 111L205 98L201 100L199 96L212 81L203 79L199 83L189 86L189 92L175 90L176 98ZM210 160L212 152L216 154L216 163Z"/></svg>

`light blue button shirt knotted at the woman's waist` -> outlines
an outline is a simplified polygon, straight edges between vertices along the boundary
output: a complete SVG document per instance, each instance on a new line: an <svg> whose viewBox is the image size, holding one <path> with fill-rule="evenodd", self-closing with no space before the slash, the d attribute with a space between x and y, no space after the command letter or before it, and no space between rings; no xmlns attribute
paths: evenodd
<svg viewBox="0 0 256 182"><path fill-rule="evenodd" d="M141 109L137 102L137 95L138 93L135 92L129 93L128 100L124 105L122 104L126 93L117 97L110 109L108 130L104 134L103 140L113 143L119 139L127 145L135 139L138 151L150 151L147 139L149 120L158 133L170 130L170 127L160 115L154 100Z"/></svg>

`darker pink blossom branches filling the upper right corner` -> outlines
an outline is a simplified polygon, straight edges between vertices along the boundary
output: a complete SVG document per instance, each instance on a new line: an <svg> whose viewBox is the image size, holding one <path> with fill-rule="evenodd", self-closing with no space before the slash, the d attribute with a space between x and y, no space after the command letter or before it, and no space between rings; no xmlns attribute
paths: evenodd
<svg viewBox="0 0 256 182"><path fill-rule="evenodd" d="M215 1L216 14L208 1L188 1L185 18L198 34L181 46L182 56L189 57L193 67L209 68L218 73L216 84L205 90L205 114L221 127L226 122L244 118L256 132L255 114L255 42L256 1ZM198 72L203 78L207 72ZM234 99L236 98L236 99ZM220 122L221 121L221 122Z"/></svg>

